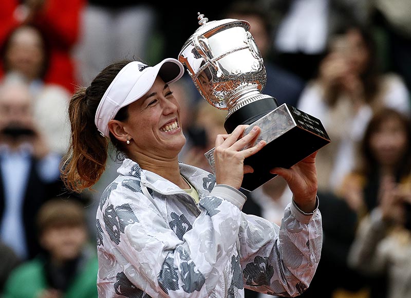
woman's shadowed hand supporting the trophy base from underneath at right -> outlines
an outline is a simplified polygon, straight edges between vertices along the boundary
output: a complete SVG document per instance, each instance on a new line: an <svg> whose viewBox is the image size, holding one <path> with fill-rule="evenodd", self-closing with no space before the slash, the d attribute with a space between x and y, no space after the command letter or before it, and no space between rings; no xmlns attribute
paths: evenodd
<svg viewBox="0 0 411 298"><path fill-rule="evenodd" d="M290 169L275 167L270 173L283 177L294 195L294 202L305 213L315 209L316 194L318 189L317 171L315 167L314 152L302 161L294 164Z"/></svg>

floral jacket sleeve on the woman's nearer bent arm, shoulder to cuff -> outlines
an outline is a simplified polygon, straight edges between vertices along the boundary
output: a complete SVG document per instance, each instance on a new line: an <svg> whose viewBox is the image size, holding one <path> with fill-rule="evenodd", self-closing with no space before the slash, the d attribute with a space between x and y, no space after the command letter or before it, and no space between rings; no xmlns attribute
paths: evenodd
<svg viewBox="0 0 411 298"><path fill-rule="evenodd" d="M224 269L236 251L241 218L240 209L230 200L242 204L245 197L229 188L219 189L200 200L202 212L192 227L183 215L173 213L179 225L171 227L162 208L157 209L141 192L120 186L111 191L97 216L105 235L100 240L107 242L99 249L109 252L107 262L115 256L126 277L123 283L132 283L152 297L208 297L216 288L225 289L230 281ZM105 267L110 264L100 265Z"/></svg>

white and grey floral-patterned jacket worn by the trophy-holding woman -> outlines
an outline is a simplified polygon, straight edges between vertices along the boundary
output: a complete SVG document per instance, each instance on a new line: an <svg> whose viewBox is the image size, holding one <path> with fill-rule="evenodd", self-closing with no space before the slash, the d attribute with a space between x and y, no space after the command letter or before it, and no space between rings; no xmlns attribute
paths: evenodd
<svg viewBox="0 0 411 298"><path fill-rule="evenodd" d="M198 205L134 161L120 166L97 211L99 297L234 298L244 297L244 288L281 296L304 292L321 255L318 209L303 214L291 202L278 227L242 213L239 192L213 195L214 175L182 163L180 172L197 189Z"/></svg>

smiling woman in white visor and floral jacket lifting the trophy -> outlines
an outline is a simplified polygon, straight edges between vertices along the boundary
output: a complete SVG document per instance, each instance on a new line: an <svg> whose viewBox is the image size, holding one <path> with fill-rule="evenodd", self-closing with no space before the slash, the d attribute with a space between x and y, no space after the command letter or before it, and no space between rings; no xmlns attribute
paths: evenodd
<svg viewBox="0 0 411 298"><path fill-rule="evenodd" d="M240 137L246 127L240 125L216 138L215 176L180 163L185 138L169 84L183 70L175 59L153 67L116 63L70 101L72 140L62 166L67 187L80 192L98 181L108 138L124 155L97 211L99 295L243 297L245 287L301 294L322 245L315 153L291 169L271 171L294 195L282 228L241 213L246 197L239 188L252 171L244 159L265 142L254 144L258 127Z"/></svg>

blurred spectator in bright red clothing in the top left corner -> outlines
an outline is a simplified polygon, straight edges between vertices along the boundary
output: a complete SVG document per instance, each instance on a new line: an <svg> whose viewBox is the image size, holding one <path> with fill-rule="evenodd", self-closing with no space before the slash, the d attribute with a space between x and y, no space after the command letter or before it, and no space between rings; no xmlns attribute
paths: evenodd
<svg viewBox="0 0 411 298"><path fill-rule="evenodd" d="M0 45L16 27L34 25L49 42L49 67L46 83L58 84L69 92L78 85L72 50L77 44L80 13L85 0L2 0L0 2Z"/></svg>

